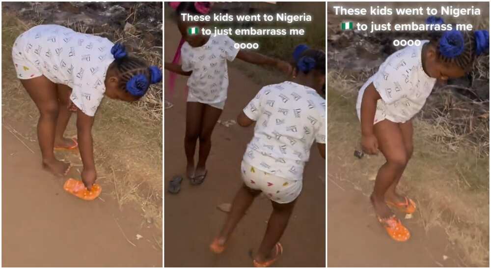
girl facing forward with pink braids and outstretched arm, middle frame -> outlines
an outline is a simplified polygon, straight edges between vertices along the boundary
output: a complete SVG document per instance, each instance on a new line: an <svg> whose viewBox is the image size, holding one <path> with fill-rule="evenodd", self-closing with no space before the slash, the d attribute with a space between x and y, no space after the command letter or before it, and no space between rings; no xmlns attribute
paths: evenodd
<svg viewBox="0 0 491 269"><path fill-rule="evenodd" d="M235 42L227 35L205 36L199 29L205 22L183 21L181 14L208 14L210 2L171 2L179 16L178 28L182 34L180 46L174 58L174 63L166 62L164 68L184 76L190 76L186 107L186 136L184 149L186 151L186 175L191 184L201 184L207 175L206 160L210 154L211 136L218 118L220 117L225 100L227 99L228 74L227 60L235 58L259 65L275 66L290 74L292 67L289 63L272 59L264 55L239 50ZM179 53L182 65L177 64ZM199 159L194 166L194 151L199 140ZM181 178L179 178L181 179ZM179 191L180 180L170 184L169 191Z"/></svg>

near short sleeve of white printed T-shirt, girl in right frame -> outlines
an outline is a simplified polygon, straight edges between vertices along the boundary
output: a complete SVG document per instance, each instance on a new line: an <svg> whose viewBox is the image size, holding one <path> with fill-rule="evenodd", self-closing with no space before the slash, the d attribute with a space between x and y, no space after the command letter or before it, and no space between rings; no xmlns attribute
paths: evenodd
<svg viewBox="0 0 491 269"><path fill-rule="evenodd" d="M405 55L405 52L395 52L385 60L374 76L373 85L386 104L401 99L412 87L409 73L413 65Z"/></svg>

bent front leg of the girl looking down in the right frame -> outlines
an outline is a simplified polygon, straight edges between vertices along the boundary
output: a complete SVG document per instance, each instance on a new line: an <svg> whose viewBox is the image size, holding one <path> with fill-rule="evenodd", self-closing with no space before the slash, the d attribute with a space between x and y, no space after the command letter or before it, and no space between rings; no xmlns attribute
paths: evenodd
<svg viewBox="0 0 491 269"><path fill-rule="evenodd" d="M385 193L401 177L408 163L408 156L399 124L382 120L374 125L374 132L386 162L379 169L370 200L377 215L387 218L392 215L392 211L385 204Z"/></svg>

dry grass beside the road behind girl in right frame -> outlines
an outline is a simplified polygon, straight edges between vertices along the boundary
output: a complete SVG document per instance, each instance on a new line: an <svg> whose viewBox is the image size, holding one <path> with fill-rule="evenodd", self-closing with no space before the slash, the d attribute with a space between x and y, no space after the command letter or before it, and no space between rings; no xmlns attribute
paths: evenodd
<svg viewBox="0 0 491 269"><path fill-rule="evenodd" d="M327 80L328 166L339 167L343 180L368 195L374 184L369 179L375 179L384 158L359 160L353 156L360 149L355 103L361 85L338 71L329 72ZM463 252L464 263L488 267L489 157L465 140L457 147L441 143L438 137L444 134L441 126L414 120L414 154L400 190L419 205L419 219L427 231L436 225L443 227Z"/></svg>

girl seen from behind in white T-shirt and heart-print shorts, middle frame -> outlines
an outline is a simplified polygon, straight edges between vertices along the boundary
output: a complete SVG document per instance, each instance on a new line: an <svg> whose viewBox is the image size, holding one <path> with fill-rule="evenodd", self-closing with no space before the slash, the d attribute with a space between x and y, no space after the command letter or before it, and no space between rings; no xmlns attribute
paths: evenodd
<svg viewBox="0 0 491 269"><path fill-rule="evenodd" d="M262 192L271 200L273 212L253 257L255 267L272 265L283 252L279 239L300 195L314 140L326 158L326 100L320 95L326 82L326 54L299 45L293 56L294 79L263 87L237 118L243 127L256 122L254 137L241 165L243 186L210 245L215 253L224 251L232 231Z"/></svg>

